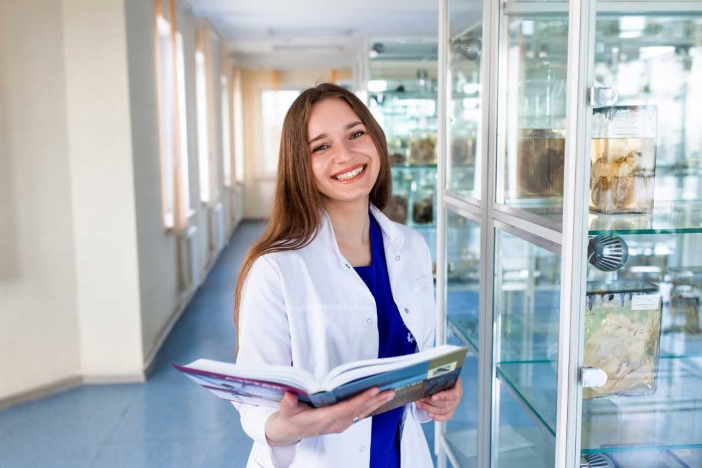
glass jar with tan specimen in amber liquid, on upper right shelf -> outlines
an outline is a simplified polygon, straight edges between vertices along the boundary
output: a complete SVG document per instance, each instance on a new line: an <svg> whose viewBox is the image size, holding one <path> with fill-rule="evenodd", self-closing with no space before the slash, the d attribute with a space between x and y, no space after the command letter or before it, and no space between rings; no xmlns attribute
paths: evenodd
<svg viewBox="0 0 702 468"><path fill-rule="evenodd" d="M651 213L656 174L656 107L593 109L590 210Z"/></svg>

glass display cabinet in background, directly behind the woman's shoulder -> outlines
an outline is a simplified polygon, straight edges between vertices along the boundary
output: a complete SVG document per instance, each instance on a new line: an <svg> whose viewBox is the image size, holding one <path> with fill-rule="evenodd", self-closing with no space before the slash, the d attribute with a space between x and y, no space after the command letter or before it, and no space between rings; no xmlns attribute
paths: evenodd
<svg viewBox="0 0 702 468"><path fill-rule="evenodd" d="M366 52L368 105L385 131L392 168L392 199L384 212L435 246L436 38L375 38Z"/></svg>

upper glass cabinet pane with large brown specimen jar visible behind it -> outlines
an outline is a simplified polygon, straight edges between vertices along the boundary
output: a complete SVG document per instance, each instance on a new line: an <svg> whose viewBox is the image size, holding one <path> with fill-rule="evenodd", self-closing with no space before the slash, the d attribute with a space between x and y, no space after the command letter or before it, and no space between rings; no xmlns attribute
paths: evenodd
<svg viewBox="0 0 702 468"><path fill-rule="evenodd" d="M559 221L565 151L567 15L510 15L501 63L498 203Z"/></svg>

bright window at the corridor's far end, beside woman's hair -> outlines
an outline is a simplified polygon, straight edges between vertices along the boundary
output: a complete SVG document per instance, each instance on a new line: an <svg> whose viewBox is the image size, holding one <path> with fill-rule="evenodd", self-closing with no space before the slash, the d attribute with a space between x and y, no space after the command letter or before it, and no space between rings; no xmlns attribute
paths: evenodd
<svg viewBox="0 0 702 468"><path fill-rule="evenodd" d="M285 114L298 97L297 90L264 90L261 92L261 117L263 119L263 157L259 175L275 175L278 169L280 133Z"/></svg>

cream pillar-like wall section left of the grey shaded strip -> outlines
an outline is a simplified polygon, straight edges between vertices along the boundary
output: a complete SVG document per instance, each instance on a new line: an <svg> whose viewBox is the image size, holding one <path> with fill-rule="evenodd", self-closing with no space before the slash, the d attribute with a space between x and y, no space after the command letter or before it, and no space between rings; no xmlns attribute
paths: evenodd
<svg viewBox="0 0 702 468"><path fill-rule="evenodd" d="M81 373L139 380L147 278L137 256L124 0L64 0L62 18Z"/></svg>

